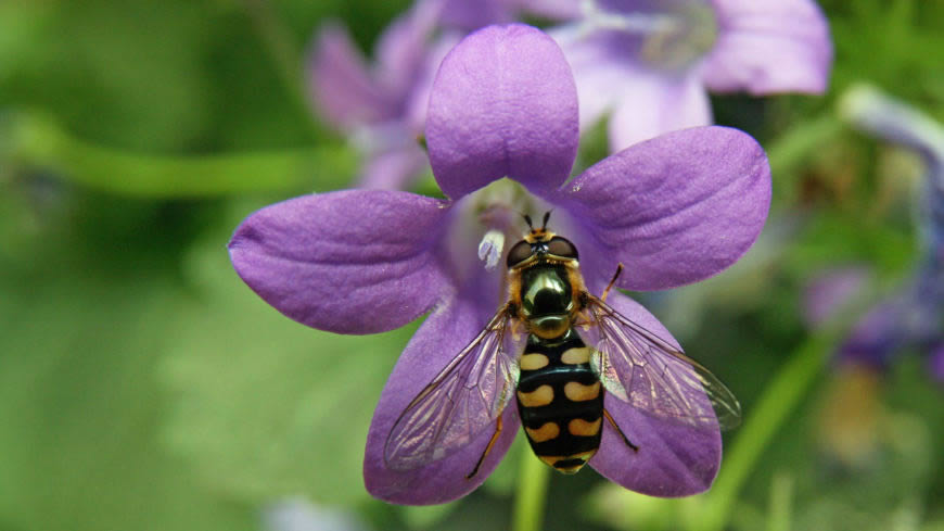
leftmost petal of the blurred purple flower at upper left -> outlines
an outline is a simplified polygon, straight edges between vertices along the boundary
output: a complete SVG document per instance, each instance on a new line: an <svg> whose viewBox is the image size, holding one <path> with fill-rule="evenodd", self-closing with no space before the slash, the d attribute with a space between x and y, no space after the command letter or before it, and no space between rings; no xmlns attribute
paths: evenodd
<svg viewBox="0 0 944 531"><path fill-rule="evenodd" d="M316 106L339 129L348 130L396 113L395 102L371 79L363 55L344 26L327 24L319 29L308 72Z"/></svg>

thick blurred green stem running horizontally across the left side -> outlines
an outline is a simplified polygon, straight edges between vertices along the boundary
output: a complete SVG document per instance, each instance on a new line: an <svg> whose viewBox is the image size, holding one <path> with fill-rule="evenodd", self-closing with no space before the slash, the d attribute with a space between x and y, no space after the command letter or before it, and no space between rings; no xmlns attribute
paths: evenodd
<svg viewBox="0 0 944 531"><path fill-rule="evenodd" d="M201 198L245 192L345 187L354 154L341 146L212 155L153 155L80 139L54 119L24 114L13 122L9 156L105 192L148 198ZM5 159L5 156L4 156Z"/></svg>

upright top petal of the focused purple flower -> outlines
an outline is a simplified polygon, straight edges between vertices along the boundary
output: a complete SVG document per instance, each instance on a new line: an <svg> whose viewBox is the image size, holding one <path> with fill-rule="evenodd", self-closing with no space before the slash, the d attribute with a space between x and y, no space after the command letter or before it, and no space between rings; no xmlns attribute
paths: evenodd
<svg viewBox="0 0 944 531"><path fill-rule="evenodd" d="M426 142L450 198L509 176L537 190L566 180L577 96L563 53L540 30L489 26L465 37L433 81Z"/></svg>

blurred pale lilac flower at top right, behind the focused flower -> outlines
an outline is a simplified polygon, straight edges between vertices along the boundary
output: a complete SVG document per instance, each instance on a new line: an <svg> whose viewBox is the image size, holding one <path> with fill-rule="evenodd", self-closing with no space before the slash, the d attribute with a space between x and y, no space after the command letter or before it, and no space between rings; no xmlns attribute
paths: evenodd
<svg viewBox="0 0 944 531"><path fill-rule="evenodd" d="M574 2L576 3L576 2ZM611 151L712 123L707 90L820 93L832 47L813 0L587 0L551 35Z"/></svg>

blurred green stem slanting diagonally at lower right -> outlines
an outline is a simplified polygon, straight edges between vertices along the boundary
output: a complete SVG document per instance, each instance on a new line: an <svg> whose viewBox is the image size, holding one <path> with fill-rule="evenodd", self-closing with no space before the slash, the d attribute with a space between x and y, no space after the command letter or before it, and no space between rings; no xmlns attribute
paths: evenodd
<svg viewBox="0 0 944 531"><path fill-rule="evenodd" d="M816 332L798 349L751 409L712 490L705 494L694 531L719 531L730 518L741 486L777 430L807 395L844 327Z"/></svg>

